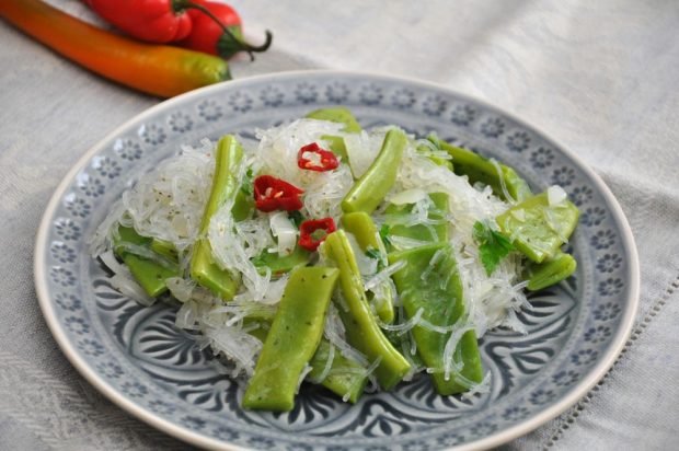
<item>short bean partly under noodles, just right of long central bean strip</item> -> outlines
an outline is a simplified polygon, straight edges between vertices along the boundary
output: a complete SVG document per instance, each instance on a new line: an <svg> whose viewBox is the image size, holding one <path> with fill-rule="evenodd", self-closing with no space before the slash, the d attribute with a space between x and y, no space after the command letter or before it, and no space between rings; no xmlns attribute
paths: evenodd
<svg viewBox="0 0 679 451"><path fill-rule="evenodd" d="M342 226L344 230L356 238L358 246L362 252L368 255L372 253L376 254L373 257L378 259L378 271L384 269L387 266L387 250L384 248L384 243L382 243L377 226L372 221L372 218L370 218L370 215L362 211L345 213L342 217ZM393 322L394 308L391 290L381 290L379 296L372 296L370 302L375 307L380 320L385 323Z"/></svg>

